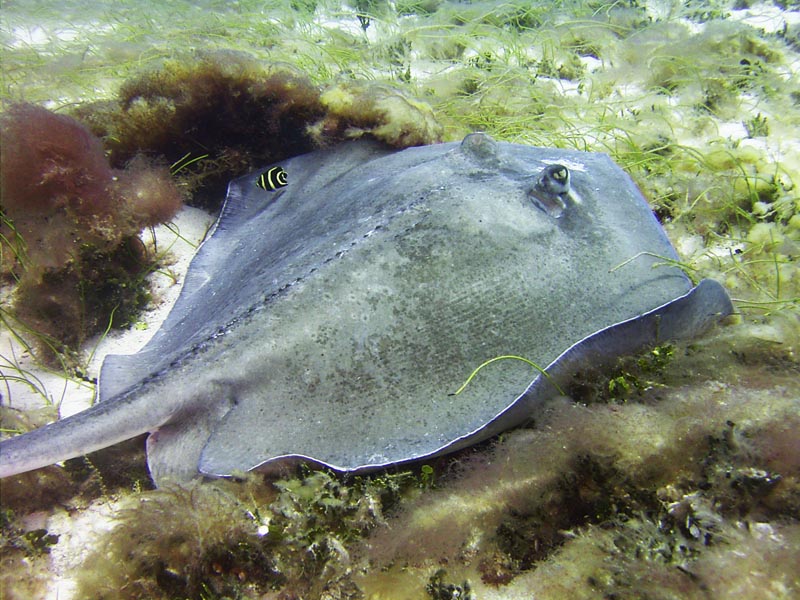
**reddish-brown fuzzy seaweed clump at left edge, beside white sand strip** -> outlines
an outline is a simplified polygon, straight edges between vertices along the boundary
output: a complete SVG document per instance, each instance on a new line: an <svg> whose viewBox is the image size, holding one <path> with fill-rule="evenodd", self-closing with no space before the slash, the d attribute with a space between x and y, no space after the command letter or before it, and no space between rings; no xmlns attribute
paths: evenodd
<svg viewBox="0 0 800 600"><path fill-rule="evenodd" d="M32 104L2 115L0 145L2 274L46 358L143 303L149 259L137 236L169 220L182 194L143 158L112 169L85 126Z"/></svg>

